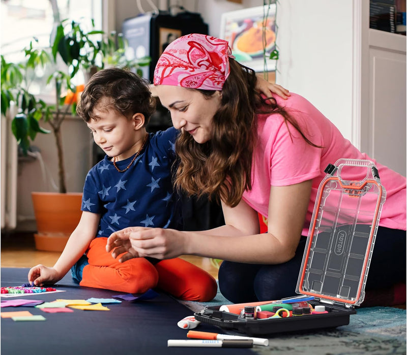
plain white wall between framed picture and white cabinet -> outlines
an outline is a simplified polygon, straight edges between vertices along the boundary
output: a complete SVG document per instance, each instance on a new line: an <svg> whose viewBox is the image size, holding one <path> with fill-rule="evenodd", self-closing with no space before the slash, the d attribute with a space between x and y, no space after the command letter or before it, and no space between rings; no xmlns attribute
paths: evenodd
<svg viewBox="0 0 407 355"><path fill-rule="evenodd" d="M352 6L352 0L284 0L277 8L276 82L308 99L349 140Z"/></svg>

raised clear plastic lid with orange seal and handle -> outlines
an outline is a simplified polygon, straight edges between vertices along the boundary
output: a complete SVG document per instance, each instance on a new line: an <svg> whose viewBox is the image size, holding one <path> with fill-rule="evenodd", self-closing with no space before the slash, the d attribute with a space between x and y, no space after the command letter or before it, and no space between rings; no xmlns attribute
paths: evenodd
<svg viewBox="0 0 407 355"><path fill-rule="evenodd" d="M315 201L297 293L360 305L386 190L370 160L339 159Z"/></svg>

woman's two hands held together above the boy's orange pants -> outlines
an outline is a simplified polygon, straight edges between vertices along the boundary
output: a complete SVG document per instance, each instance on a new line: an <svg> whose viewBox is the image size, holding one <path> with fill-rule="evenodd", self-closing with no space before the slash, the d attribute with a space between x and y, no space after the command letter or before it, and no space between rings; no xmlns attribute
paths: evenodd
<svg viewBox="0 0 407 355"><path fill-rule="evenodd" d="M123 263L133 257L155 257L171 259L185 250L185 234L171 229L129 227L112 233L107 239L106 251L111 251L119 262Z"/></svg>

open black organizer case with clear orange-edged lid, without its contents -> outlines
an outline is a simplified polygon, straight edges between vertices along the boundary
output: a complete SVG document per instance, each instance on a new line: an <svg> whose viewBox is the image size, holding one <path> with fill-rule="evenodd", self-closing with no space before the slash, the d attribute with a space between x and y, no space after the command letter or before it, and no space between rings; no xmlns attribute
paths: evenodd
<svg viewBox="0 0 407 355"><path fill-rule="evenodd" d="M248 335L333 328L349 324L364 288L386 190L370 160L339 159L318 188L297 293L328 313L247 319L206 307L197 320ZM270 301L272 303L273 301Z"/></svg>

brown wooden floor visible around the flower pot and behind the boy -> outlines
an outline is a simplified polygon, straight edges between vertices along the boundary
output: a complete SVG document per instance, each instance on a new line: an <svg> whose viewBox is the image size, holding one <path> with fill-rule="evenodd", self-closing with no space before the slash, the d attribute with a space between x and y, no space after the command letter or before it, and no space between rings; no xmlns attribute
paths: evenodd
<svg viewBox="0 0 407 355"><path fill-rule="evenodd" d="M41 251L35 248L32 234L2 234L1 237L1 267L31 268L37 264L53 266L60 256L59 251ZM211 259L194 255L183 255L182 259L208 271L218 278L218 268Z"/></svg>

